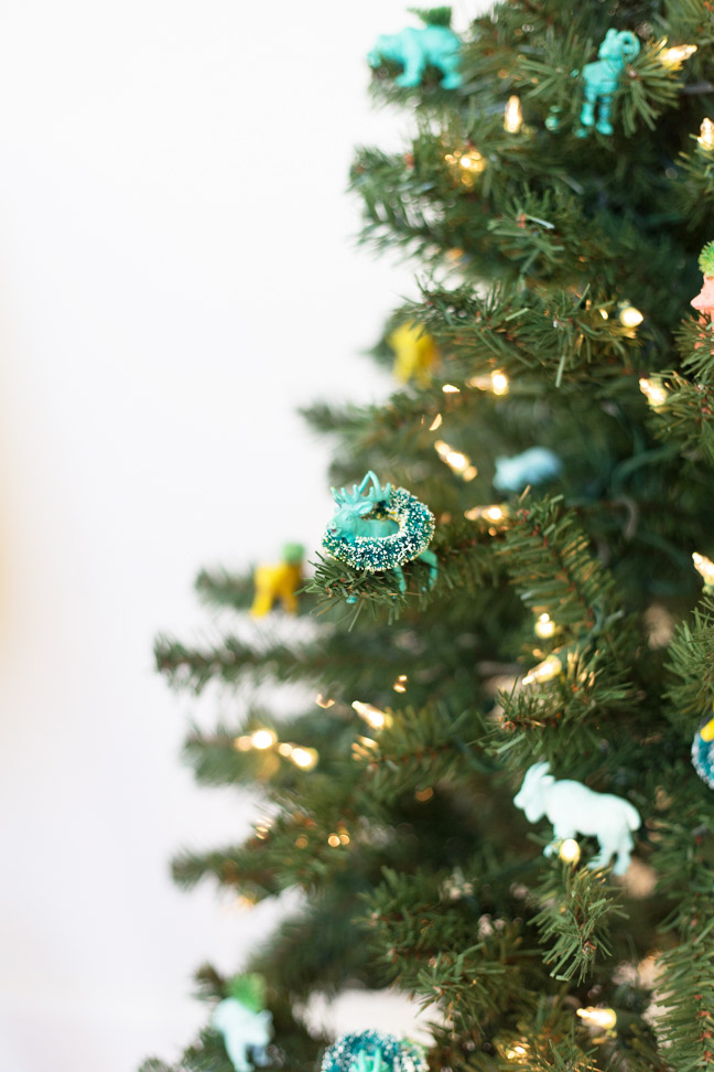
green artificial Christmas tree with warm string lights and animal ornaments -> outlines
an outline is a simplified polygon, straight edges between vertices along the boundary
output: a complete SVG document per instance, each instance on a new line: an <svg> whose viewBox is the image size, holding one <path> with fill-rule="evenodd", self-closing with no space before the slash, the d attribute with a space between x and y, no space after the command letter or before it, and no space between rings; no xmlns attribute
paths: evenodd
<svg viewBox="0 0 714 1072"><path fill-rule="evenodd" d="M627 43L607 78L604 41ZM414 136L357 154L365 239L422 279L375 357L409 325L440 362L383 406L306 414L355 485L301 597L317 634L158 643L183 688L317 695L192 736L197 776L258 785L269 818L176 880L304 894L248 965L269 1069L411 1052L311 1036L306 1001L348 984L432 1009L433 1070L714 1066L714 600L691 557L714 553L714 337L690 305L714 234L714 13L513 0L453 77L426 57L400 78L385 42L370 63ZM404 489L429 533L392 556ZM248 577L199 590L252 598ZM199 980L214 1005L237 985ZM220 1032L178 1068L230 1072Z"/></svg>

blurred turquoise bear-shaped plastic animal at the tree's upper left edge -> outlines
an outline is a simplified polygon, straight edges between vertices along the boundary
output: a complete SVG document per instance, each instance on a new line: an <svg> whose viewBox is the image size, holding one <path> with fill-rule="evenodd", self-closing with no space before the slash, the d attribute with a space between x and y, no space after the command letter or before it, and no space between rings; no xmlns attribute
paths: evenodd
<svg viewBox="0 0 714 1072"><path fill-rule="evenodd" d="M461 42L448 25L430 23L429 12L421 13L425 26L409 26L400 33L382 33L369 53L370 67L379 67L385 60L400 63L403 72L396 79L398 86L418 86L428 65L442 73L442 89L457 89L462 84L458 71ZM451 12L450 12L451 18Z"/></svg>

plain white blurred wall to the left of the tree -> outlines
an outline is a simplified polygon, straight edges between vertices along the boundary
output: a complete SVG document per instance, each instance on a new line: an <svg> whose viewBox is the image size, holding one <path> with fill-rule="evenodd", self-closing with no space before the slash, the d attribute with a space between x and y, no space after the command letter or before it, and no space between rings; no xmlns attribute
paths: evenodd
<svg viewBox="0 0 714 1072"><path fill-rule="evenodd" d="M404 8L3 6L3 1069L175 1057L204 1019L192 972L269 925L171 885L180 846L252 810L180 765L196 705L152 640L205 631L199 566L315 546L327 447L293 410L383 392L357 354L411 269L354 249L344 187L354 144L408 129L370 111L365 62Z"/></svg>

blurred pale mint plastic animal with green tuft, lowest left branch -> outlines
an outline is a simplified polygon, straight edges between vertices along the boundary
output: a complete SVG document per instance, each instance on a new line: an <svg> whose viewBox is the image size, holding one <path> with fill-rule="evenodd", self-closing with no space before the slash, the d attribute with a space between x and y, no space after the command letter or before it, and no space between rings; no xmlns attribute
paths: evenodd
<svg viewBox="0 0 714 1072"><path fill-rule="evenodd" d="M223 1035L236 1072L252 1072L255 1065L270 1063L266 1050L272 1038L272 1014L262 1008L260 976L238 976L230 989L231 997L216 1006L210 1022Z"/></svg>

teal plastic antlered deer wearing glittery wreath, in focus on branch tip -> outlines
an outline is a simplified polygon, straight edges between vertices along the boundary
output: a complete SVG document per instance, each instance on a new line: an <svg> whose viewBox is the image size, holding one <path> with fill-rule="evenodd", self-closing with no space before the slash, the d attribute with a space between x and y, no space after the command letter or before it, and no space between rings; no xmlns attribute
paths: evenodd
<svg viewBox="0 0 714 1072"><path fill-rule="evenodd" d="M370 573L392 569L400 592L407 591L401 567L419 558L429 566L429 587L433 587L439 559L428 550L435 524L428 506L405 487L382 487L371 470L359 486L353 484L351 491L333 487L332 493L337 510L323 536L325 550Z"/></svg>

